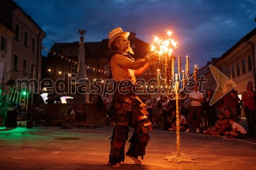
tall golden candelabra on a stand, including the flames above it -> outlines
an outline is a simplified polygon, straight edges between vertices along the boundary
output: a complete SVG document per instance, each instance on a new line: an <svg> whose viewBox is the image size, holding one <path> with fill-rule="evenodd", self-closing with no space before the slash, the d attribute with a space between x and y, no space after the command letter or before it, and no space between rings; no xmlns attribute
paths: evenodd
<svg viewBox="0 0 256 170"><path fill-rule="evenodd" d="M167 32L168 36L172 35L172 32ZM171 58L171 55L173 53L173 48L170 48L171 46L177 47L177 42L175 42L173 39L166 39L166 37L162 40L155 36L153 42L150 45L150 50L153 54L156 54L159 56L159 62L164 62L164 75L161 75L160 69L157 70L157 86L159 86L160 81L163 80L165 85L167 86L169 93L174 93L174 98L169 100L176 100L176 134L177 134L177 155L172 157L165 157L168 162L193 162L195 163L194 158L184 158L180 154L180 119L179 119L179 100L184 99L185 97L181 96L181 93L184 93L184 90L189 84L189 81L191 81L194 78L194 83L196 83L197 80L197 71L198 67L195 66L194 72L192 75L189 75L189 59L188 56L186 56L186 65L185 65L185 71L181 71L181 56L178 56L178 73L175 74L174 70L174 59L172 59L172 70L169 74L169 68L168 68L168 60Z"/></svg>

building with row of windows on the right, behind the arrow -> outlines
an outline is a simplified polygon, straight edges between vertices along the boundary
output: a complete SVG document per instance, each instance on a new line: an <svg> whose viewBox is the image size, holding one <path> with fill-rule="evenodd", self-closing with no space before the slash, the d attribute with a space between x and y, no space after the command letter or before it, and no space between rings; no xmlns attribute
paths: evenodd
<svg viewBox="0 0 256 170"><path fill-rule="evenodd" d="M200 68L198 74L207 79L207 82L203 86L204 90L215 90L218 86L214 76L211 74L209 64L216 67L222 74L236 84L235 90L238 91L240 98L246 91L246 86L249 81L254 83L253 86L255 88L255 47L256 28L234 44L221 57L212 59L206 66ZM223 87L222 90L225 93L226 85L220 84L220 86Z"/></svg>

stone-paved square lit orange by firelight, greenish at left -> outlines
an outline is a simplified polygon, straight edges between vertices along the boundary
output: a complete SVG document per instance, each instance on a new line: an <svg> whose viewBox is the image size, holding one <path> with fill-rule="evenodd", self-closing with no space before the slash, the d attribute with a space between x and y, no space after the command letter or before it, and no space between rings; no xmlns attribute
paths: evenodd
<svg viewBox="0 0 256 170"><path fill-rule="evenodd" d="M64 128L64 129L62 129ZM1 169L115 169L109 167L111 126L0 128ZM131 137L132 128L129 136ZM174 163L176 132L154 129L142 165L125 158L119 169L256 169L256 137L227 139L181 132L180 153L196 163ZM129 147L126 143L125 151Z"/></svg>

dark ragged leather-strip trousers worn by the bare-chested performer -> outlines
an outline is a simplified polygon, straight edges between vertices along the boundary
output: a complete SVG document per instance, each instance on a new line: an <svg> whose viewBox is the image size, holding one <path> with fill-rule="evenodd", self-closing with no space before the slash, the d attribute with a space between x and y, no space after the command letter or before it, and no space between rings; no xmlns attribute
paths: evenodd
<svg viewBox="0 0 256 170"><path fill-rule="evenodd" d="M120 53L119 53L120 54ZM126 56L127 57L127 56ZM127 154L138 158L145 155L145 148L150 137L148 136L148 127L152 123L148 118L146 111L146 104L144 104L138 96L134 93L134 85L132 82L117 82L116 90L113 98L113 111L115 118L115 128L111 140L111 151L109 156L109 163L115 165L124 161L124 146L128 140L129 126L134 128L133 135L129 140L130 147ZM116 89L116 88L115 88ZM122 94L122 91L129 90L129 93Z"/></svg>

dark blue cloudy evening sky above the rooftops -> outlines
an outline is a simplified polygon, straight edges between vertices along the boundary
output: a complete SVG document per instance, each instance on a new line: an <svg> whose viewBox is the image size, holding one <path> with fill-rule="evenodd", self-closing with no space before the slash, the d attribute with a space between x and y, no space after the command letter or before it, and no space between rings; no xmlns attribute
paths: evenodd
<svg viewBox="0 0 256 170"><path fill-rule="evenodd" d="M43 52L47 56L54 42L79 41L79 29L86 29L85 42L101 41L116 27L134 32L150 43L153 35L173 32L178 42L174 56L189 56L192 65L202 67L221 57L256 26L256 1L164 1L164 0L15 0L47 34ZM136 55L136 54L135 54Z"/></svg>

